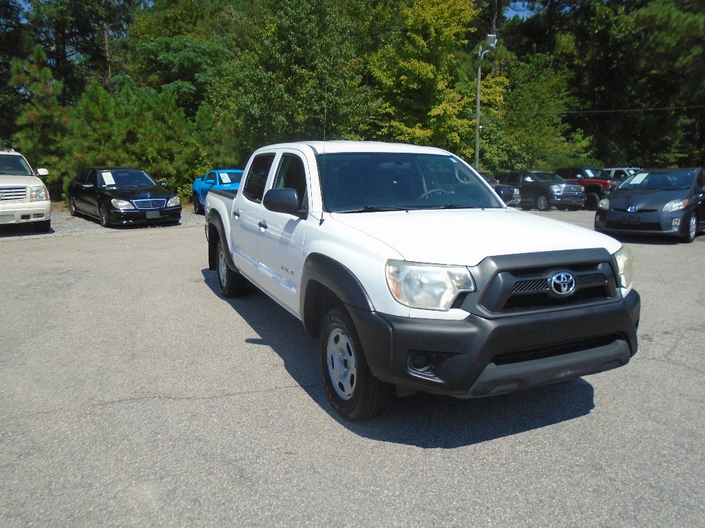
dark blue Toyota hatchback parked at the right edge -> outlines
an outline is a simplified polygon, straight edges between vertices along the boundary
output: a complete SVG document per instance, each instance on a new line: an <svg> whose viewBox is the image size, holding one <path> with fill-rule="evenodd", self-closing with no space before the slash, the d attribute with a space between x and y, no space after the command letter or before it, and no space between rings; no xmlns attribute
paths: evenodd
<svg viewBox="0 0 705 528"><path fill-rule="evenodd" d="M704 170L637 170L600 201L595 230L668 234L692 242L705 230Z"/></svg>

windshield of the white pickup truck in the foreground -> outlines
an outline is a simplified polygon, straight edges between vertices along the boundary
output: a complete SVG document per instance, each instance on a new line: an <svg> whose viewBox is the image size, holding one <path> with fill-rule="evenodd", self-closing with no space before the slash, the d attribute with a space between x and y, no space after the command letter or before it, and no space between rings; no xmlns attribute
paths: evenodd
<svg viewBox="0 0 705 528"><path fill-rule="evenodd" d="M329 213L504 207L484 180L454 156L325 153L317 161Z"/></svg>

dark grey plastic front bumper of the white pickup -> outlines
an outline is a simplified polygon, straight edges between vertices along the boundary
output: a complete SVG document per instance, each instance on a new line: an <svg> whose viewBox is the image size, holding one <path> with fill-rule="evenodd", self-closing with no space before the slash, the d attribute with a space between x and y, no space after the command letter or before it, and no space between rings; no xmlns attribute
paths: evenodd
<svg viewBox="0 0 705 528"><path fill-rule="evenodd" d="M348 307L376 377L474 398L626 365L637 353L637 291L603 306L465 320L398 318Z"/></svg>

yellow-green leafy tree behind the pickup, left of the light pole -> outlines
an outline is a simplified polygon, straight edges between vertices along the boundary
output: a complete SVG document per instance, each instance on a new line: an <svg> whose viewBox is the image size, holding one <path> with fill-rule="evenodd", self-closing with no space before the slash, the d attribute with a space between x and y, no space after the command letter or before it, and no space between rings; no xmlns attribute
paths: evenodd
<svg viewBox="0 0 705 528"><path fill-rule="evenodd" d="M400 9L398 38L370 59L383 101L376 116L380 137L434 144L470 158L474 101L456 89L455 52L476 13L461 0L417 0Z"/></svg>

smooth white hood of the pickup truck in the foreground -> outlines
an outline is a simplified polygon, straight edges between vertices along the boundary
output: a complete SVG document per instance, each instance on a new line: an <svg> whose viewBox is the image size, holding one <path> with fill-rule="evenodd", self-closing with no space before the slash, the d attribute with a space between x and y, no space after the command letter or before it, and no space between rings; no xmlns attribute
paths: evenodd
<svg viewBox="0 0 705 528"><path fill-rule="evenodd" d="M620 249L592 230L513 208L333 213L331 217L378 239L410 262L474 266L487 256L567 249Z"/></svg>

